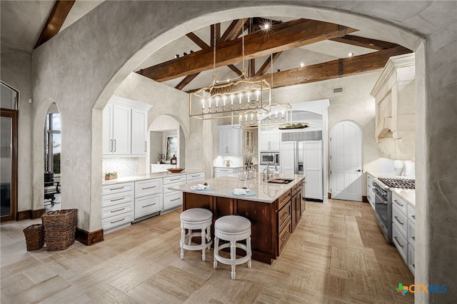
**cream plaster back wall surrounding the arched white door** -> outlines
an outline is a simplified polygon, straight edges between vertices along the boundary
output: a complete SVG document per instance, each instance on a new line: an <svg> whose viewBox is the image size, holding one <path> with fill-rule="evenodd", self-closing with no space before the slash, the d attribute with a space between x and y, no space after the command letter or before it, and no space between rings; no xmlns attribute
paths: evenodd
<svg viewBox="0 0 457 304"><path fill-rule="evenodd" d="M370 96L374 83L378 80L381 71L375 71L358 76L349 76L328 81L306 83L298 86L288 86L273 90L273 96L280 103L294 103L300 101L313 101L328 98L328 136L331 128L339 121L355 121L363 132L362 158L363 171L378 171L380 166L379 148L374 137L375 127L375 101ZM333 94L333 88L343 87L343 93ZM327 138L328 141L328 138ZM328 141L328 155L330 155L330 142ZM330 158L328 159L330 166ZM362 195L366 196L366 174L362 178ZM328 178L330 168L328 168ZM330 192L331 182L328 180L327 192Z"/></svg>

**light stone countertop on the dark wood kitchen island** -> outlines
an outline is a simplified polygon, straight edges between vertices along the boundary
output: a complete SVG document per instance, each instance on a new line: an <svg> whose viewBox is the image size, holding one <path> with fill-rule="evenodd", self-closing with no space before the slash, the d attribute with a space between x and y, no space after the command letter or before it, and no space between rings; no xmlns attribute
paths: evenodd
<svg viewBox="0 0 457 304"><path fill-rule="evenodd" d="M187 193L196 193L206 196L219 196L224 198L241 198L246 201L258 201L261 203L273 203L283 193L290 190L297 183L301 182L306 176L299 174L277 174L275 178L293 178L288 184L281 183L268 183L262 181L261 174L257 178L250 179L247 181L240 181L238 175L231 174L230 176L221 176L219 178L207 179L204 182L208 183L208 186L213 187L214 190L209 191L196 191L191 190L191 186L195 186L202 181L196 183L187 183L186 185L170 187L171 190L183 191ZM243 188L246 186L251 191L255 191L255 196L231 196L229 191L233 191L234 188Z"/></svg>

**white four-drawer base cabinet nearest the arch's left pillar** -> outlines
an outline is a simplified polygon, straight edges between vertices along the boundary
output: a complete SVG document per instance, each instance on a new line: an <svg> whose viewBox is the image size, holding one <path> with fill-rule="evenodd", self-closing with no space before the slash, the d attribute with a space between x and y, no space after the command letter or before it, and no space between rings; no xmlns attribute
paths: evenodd
<svg viewBox="0 0 457 304"><path fill-rule="evenodd" d="M130 226L134 221L134 183L102 186L101 227L104 233Z"/></svg>

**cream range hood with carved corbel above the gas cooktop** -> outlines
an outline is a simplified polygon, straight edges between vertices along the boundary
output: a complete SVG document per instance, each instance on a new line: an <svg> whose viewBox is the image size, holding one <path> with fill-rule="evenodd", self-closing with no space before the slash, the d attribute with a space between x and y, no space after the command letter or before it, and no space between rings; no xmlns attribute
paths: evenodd
<svg viewBox="0 0 457 304"><path fill-rule="evenodd" d="M416 150L416 69L414 54L393 56L371 96L376 100L376 141L381 156L414 161Z"/></svg>

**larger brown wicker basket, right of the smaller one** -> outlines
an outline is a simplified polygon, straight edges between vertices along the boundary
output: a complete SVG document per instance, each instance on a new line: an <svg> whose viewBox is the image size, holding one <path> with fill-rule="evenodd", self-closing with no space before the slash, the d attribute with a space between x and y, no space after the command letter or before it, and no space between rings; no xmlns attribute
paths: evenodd
<svg viewBox="0 0 457 304"><path fill-rule="evenodd" d="M78 209L49 211L41 216L46 250L64 250L74 243Z"/></svg>

